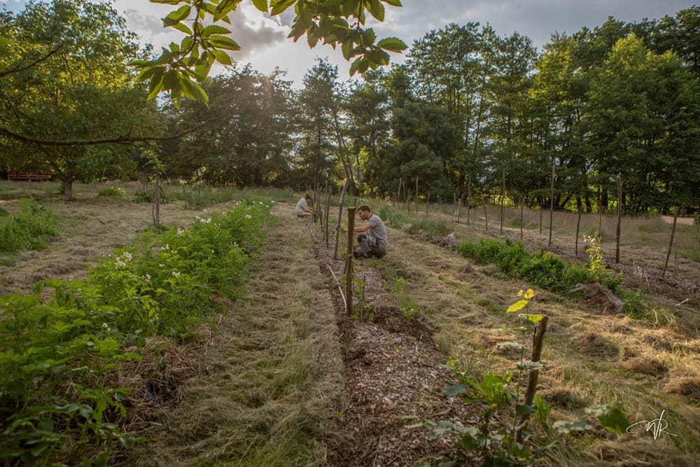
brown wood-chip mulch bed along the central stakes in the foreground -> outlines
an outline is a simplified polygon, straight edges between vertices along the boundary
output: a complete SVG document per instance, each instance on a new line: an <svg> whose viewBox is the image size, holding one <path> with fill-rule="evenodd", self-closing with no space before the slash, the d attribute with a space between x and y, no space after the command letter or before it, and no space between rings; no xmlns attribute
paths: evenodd
<svg viewBox="0 0 700 467"><path fill-rule="evenodd" d="M328 266L337 278L342 276L343 263L332 260L332 251L317 244L316 258L329 277ZM332 289L346 407L338 421L340 433L323 439L328 463L407 466L420 459L449 459L454 440L428 440L425 429L406 426L426 419L476 424L477 409L442 393L456 381L448 370L438 368L447 356L433 342L431 330L420 319L408 321L395 307L380 305L387 298L379 272L363 265L360 274L365 295L374 298L371 321L347 316L339 291Z"/></svg>

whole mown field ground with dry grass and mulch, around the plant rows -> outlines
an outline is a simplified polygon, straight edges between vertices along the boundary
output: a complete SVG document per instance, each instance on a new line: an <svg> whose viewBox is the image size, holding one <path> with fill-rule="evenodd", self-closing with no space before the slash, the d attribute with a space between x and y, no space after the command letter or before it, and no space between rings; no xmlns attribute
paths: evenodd
<svg viewBox="0 0 700 467"><path fill-rule="evenodd" d="M45 249L3 253L0 293L31 293L36 281L50 278L85 278L84 265L99 264L100 257L148 230L151 205L134 202L142 187L109 186L125 195L99 196L104 184L77 186L76 202L66 204L48 183L1 182L0 207L8 214L19 211L20 197L33 196L57 214L59 232L48 237ZM356 263L357 307L348 316L338 285L344 263L333 259L332 242L327 248L309 219L293 216L293 193L229 190L217 197L204 190L200 202L190 197L186 207L175 199L178 187L168 190L172 201L162 205L161 220L170 227L186 228L253 195L274 198L276 222L265 225L267 239L241 297L222 298L214 319L194 338L164 341L166 349L155 353L158 372L144 373L153 358L148 351L140 369L118 370L125 381L148 387L168 377L169 393L149 402L134 391L125 403L127 417L111 419L146 442L87 449L93 460L109 446L113 461L134 466L438 465L454 458L458 437L429 439L430 421L483 423L473 397L463 402L443 393L459 382L444 364L453 361L480 382L481 389L472 390L482 392L470 396L485 400L489 375L512 375L507 389L517 386L517 353L498 344L513 340L502 329L518 320L506 309L531 284L435 244L450 232L459 242L497 239L497 207L486 211L487 231L483 207L470 213L466 225L464 212L461 223L450 223L447 205L428 208L430 223L425 205L415 216L372 202L375 211L384 206L398 220L387 222L387 256ZM331 211L336 216L337 205ZM529 213L525 223L526 249L532 252L547 243L538 216ZM519 239L516 220L519 211L513 209L505 220L513 239ZM575 214L555 214L553 251L568 265L585 265L582 239L579 255L573 254L575 223ZM597 225L598 216L587 216L581 231L590 235ZM603 218L603 226L603 258L612 265L615 221ZM694 227L682 226L686 239L692 240ZM687 249L679 244L678 259L672 256L673 267L661 278L669 233L661 218L623 223L619 271L626 300L638 302L634 312L605 313L584 306L579 295L535 288L530 312L549 318L537 393L551 411L545 423L528 426L528 444L556 442L535 454L544 463L694 465L700 451L700 264L692 242ZM654 439L643 426L614 433L587 412L615 404L630 424L664 411L666 433ZM512 405L496 403L494 430L511 424ZM580 419L594 426L568 435L552 428L556 421ZM489 439L497 445L496 437ZM71 463L66 449L57 447L46 459ZM479 463L487 455L472 449L464 462Z"/></svg>

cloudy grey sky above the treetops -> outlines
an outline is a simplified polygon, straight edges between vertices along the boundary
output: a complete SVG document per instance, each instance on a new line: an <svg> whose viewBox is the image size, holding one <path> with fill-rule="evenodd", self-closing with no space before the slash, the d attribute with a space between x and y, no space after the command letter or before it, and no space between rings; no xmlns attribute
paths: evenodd
<svg viewBox="0 0 700 467"><path fill-rule="evenodd" d="M0 0L0 8L20 11L24 0ZM164 29L162 20L173 6L151 4L148 0L112 0L116 10L127 21L127 27L139 34L141 41L152 43L155 50L171 41L180 42L182 34L172 28ZM410 47L415 39L431 29L440 29L450 22L464 24L489 23L500 36L519 32L542 48L554 32L571 34L582 27L593 29L608 16L633 22L663 18L695 4L692 0L402 0L403 6L386 5L384 22L367 21L379 39L395 36ZM242 50L231 53L239 64L250 62L253 68L269 73L275 67L288 71L287 78L295 87L302 86L302 78L314 64L316 57L327 57L337 64L339 78L349 78L349 64L339 48L316 46L309 49L305 36L297 43L286 39L293 21L290 8L282 15L269 18L256 10L251 1L244 0L232 14L232 38ZM391 53L391 60L401 63L400 54ZM214 69L214 73L221 69Z"/></svg>

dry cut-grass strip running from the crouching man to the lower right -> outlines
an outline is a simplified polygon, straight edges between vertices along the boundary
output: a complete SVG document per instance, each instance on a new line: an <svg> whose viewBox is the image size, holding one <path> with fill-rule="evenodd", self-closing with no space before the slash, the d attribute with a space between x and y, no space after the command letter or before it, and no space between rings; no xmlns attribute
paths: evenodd
<svg viewBox="0 0 700 467"><path fill-rule="evenodd" d="M389 228L389 237L391 252L377 265L389 283L409 279L412 300L435 309L429 319L440 346L480 370L514 370L514 361L496 350L496 342L511 337L495 328L514 324L505 309L526 284L498 279L493 267L473 265L400 230ZM532 311L550 316L539 391L554 408L552 419L575 419L584 416L584 407L619 400L633 421L666 409L668 431L678 434L653 440L642 429L619 438L575 438L568 442L575 449L561 449L555 459L568 465L613 465L622 459L692 465L691 453L700 449L700 410L671 391L683 377L700 381L696 333L601 316L552 293L537 293Z"/></svg>

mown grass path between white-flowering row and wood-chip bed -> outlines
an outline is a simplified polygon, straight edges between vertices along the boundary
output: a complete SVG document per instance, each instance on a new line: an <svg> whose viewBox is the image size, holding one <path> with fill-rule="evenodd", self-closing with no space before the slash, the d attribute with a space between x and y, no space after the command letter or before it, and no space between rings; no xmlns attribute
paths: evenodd
<svg viewBox="0 0 700 467"><path fill-rule="evenodd" d="M131 465L325 463L319 437L342 407L342 360L328 281L292 211L276 208L281 223L248 298L223 319L183 402L146 434Z"/></svg>

